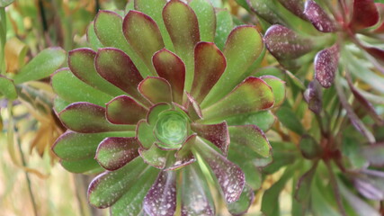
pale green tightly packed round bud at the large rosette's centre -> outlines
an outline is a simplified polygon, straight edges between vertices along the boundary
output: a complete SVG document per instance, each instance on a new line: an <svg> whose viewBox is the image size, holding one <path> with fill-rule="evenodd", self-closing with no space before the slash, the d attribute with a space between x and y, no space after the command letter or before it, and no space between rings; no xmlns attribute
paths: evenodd
<svg viewBox="0 0 384 216"><path fill-rule="evenodd" d="M175 111L162 112L159 114L155 126L156 138L162 142L161 148L180 148L187 136L186 118Z"/></svg>

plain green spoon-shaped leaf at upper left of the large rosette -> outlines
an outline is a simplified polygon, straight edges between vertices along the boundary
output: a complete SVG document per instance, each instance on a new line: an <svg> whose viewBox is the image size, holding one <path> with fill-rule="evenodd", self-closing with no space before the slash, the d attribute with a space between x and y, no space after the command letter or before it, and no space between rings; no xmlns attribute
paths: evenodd
<svg viewBox="0 0 384 216"><path fill-rule="evenodd" d="M141 76L150 76L152 73L138 54L129 46L122 32L122 18L111 11L99 11L94 18L94 32L105 47L113 47L123 50L134 65L138 67Z"/></svg>

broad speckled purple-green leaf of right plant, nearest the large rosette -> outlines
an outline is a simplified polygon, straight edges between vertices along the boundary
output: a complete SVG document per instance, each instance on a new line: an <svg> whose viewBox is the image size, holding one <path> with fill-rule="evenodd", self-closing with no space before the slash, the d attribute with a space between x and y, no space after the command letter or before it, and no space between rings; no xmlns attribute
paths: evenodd
<svg viewBox="0 0 384 216"><path fill-rule="evenodd" d="M292 59L312 50L312 41L299 36L282 25L272 25L263 38L268 50L275 58Z"/></svg>

